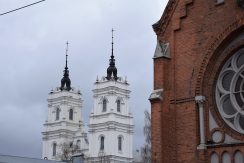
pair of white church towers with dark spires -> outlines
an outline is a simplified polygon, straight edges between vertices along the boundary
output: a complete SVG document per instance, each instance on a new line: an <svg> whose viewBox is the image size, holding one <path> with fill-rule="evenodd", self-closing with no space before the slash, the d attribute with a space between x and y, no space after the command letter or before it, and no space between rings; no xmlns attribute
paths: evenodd
<svg viewBox="0 0 244 163"><path fill-rule="evenodd" d="M82 120L82 94L71 87L66 50L61 86L48 96L48 117L42 132L43 159L61 160L72 154L84 154L91 162L132 162L134 125L129 110L130 90L127 80L117 76L113 44L112 30L107 76L97 78L94 83L88 135Z"/></svg>

